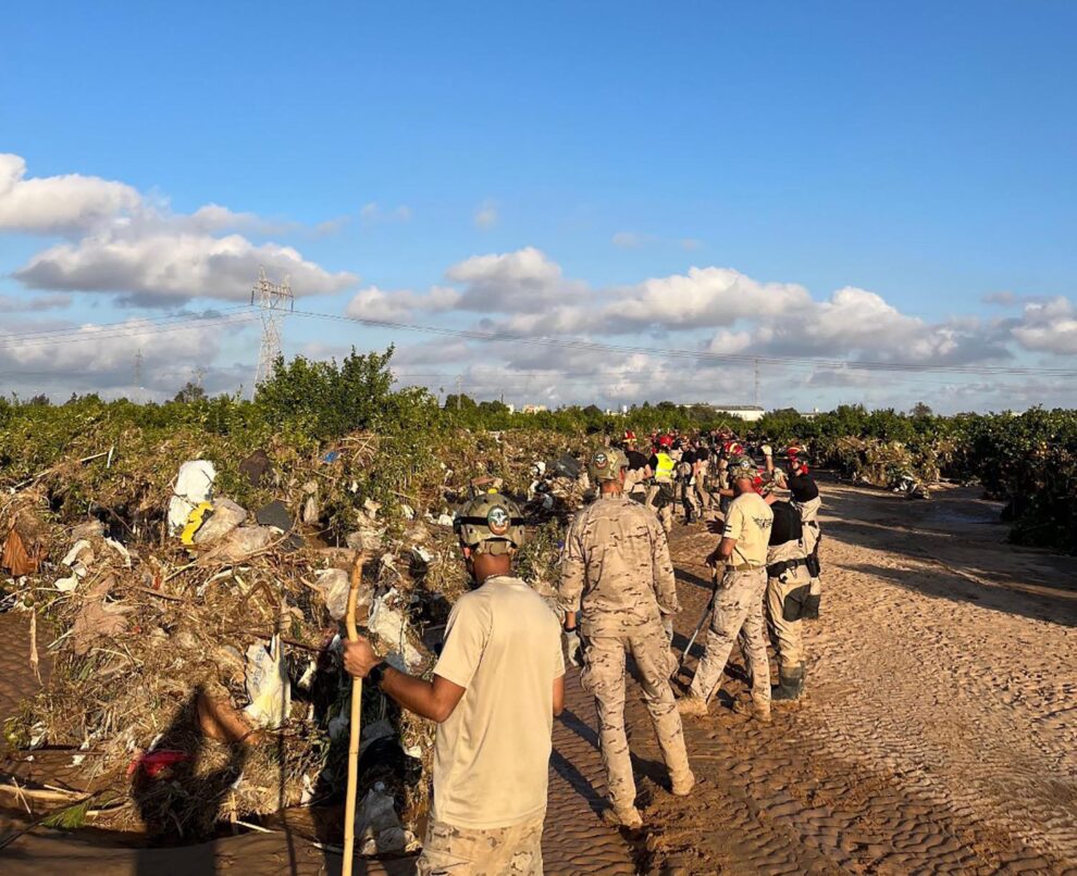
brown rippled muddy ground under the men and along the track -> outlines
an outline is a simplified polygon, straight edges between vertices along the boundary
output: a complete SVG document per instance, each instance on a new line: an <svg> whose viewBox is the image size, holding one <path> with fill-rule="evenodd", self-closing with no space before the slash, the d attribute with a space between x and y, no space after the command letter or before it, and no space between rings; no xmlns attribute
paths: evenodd
<svg viewBox="0 0 1077 876"><path fill-rule="evenodd" d="M807 631L807 700L776 709L770 725L733 713L744 690L734 650L711 714L685 722L700 785L678 799L630 698L647 827L622 835L601 821L594 710L573 673L555 724L547 873L1077 874L1077 561L1004 543L998 506L970 489L906 502L824 488L826 590ZM701 526L674 529L681 647L708 597L700 563L714 541ZM36 684L25 627L0 616L3 714ZM62 780L62 765L20 769ZM0 816L0 836L18 824ZM273 834L170 850L39 828L0 851L0 871L337 873L319 836L305 813ZM413 872L409 861L363 866Z"/></svg>

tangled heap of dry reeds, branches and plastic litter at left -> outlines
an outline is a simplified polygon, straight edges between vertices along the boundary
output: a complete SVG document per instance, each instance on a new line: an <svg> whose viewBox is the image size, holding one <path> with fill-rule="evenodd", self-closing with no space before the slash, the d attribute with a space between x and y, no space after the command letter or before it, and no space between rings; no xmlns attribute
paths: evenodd
<svg viewBox="0 0 1077 876"><path fill-rule="evenodd" d="M189 459L156 511L129 470L122 487L96 473L113 488L111 506L89 501L82 520L49 477L13 492L0 501L3 605L52 630L41 647L53 668L5 727L9 747L70 749L95 825L172 841L337 800L351 690L341 622L357 552L367 558L359 624L412 674L431 672L467 588L451 510L469 492L500 488L528 502L537 525L521 567L553 596L585 474L568 439L517 438L472 436L382 503L357 474L376 453L371 436L310 459L257 451L227 478L216 467L227 463ZM257 504L223 495L222 479ZM137 520L122 513L136 508ZM433 726L363 690L359 848L411 851L429 805Z"/></svg>

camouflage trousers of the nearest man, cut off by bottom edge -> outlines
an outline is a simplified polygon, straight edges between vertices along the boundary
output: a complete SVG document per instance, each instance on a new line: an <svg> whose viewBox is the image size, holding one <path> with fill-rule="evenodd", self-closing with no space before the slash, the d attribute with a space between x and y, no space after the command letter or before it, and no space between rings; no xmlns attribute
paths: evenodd
<svg viewBox="0 0 1077 876"><path fill-rule="evenodd" d="M543 817L509 827L454 827L431 819L419 876L542 876Z"/></svg>

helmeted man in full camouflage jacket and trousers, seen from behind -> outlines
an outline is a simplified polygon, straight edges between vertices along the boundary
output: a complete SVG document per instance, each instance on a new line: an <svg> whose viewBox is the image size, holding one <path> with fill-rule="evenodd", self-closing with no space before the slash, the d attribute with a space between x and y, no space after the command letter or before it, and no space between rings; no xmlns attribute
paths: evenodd
<svg viewBox="0 0 1077 876"><path fill-rule="evenodd" d="M611 822L640 827L635 780L624 734L624 655L632 655L651 719L669 769L672 791L685 796L695 778L684 751L677 701L669 687L673 615L679 611L666 533L655 515L622 495L628 460L595 454L591 471L598 499L581 511L565 540L558 604L565 611L569 660L580 648L580 681L595 698L598 740L606 766ZM582 608L582 611L581 611Z"/></svg>

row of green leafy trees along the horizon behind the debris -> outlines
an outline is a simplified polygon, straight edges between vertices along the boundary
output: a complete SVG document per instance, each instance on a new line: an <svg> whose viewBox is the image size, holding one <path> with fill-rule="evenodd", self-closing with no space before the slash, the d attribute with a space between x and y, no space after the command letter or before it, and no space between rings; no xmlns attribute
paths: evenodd
<svg viewBox="0 0 1077 876"><path fill-rule="evenodd" d="M1077 551L1075 411L934 416L926 405L909 414L842 405L812 417L793 410L772 411L752 425L706 405L672 402L645 403L623 415L595 405L523 414L467 396L449 396L441 406L421 388L394 392L392 354L392 348L384 353L352 351L341 363L281 359L252 401L207 398L195 386L163 404L106 402L97 396L73 397L61 405L41 398L0 398L0 486L15 486L65 460L111 446L122 446L128 461L170 443L175 445L177 461L190 459L183 454L200 448L239 460L270 442L309 454L345 435L372 431L379 435L377 459L361 475L357 493L394 502L406 499L414 481L430 476L434 449L459 440L454 436L461 430L617 438L631 429L642 438L667 429L692 433L729 426L741 438L766 438L776 446L808 443L822 462L841 438L899 441L914 455L937 460L943 476L978 479L989 496L1012 502L1015 540ZM162 485L174 471L158 473ZM222 486L233 486L232 475L226 465Z"/></svg>

